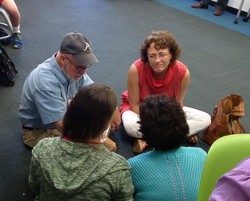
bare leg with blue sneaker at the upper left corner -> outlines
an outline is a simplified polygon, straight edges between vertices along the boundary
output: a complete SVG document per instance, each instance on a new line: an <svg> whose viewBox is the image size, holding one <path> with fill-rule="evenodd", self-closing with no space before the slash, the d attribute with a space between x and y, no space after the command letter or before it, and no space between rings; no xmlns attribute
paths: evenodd
<svg viewBox="0 0 250 201"><path fill-rule="evenodd" d="M1 5L9 14L12 23L13 27L12 47L15 49L19 49L23 46L21 39L21 31L20 31L20 22L21 22L20 12L14 0L3 0Z"/></svg>

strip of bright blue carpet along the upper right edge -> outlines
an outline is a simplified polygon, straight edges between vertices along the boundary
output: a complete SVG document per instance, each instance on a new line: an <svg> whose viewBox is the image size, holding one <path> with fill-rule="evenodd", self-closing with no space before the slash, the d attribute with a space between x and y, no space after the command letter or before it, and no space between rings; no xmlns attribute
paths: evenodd
<svg viewBox="0 0 250 201"><path fill-rule="evenodd" d="M175 8L177 10L186 12L204 20L216 23L220 26L228 29L240 32L247 36L250 36L250 20L248 22L242 21L242 16L239 17L238 24L235 24L236 14L229 11L224 11L222 16L214 16L214 6L209 6L208 9L195 9L191 7L191 4L197 3L194 0L156 0L166 6Z"/></svg>

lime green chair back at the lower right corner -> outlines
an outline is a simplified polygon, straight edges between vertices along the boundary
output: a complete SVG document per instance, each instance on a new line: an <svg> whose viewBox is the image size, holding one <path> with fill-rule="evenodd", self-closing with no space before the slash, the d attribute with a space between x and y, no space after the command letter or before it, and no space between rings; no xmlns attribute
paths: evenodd
<svg viewBox="0 0 250 201"><path fill-rule="evenodd" d="M250 156L250 134L227 135L216 140L205 160L198 201L208 201L219 178Z"/></svg>

